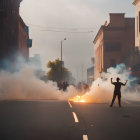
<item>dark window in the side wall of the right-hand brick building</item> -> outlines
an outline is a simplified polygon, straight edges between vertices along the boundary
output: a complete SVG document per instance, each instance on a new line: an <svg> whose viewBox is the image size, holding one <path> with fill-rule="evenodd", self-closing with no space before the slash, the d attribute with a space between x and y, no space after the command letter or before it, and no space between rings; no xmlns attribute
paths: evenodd
<svg viewBox="0 0 140 140"><path fill-rule="evenodd" d="M121 51L121 48L120 42L105 43L105 51L107 52L119 52Z"/></svg>

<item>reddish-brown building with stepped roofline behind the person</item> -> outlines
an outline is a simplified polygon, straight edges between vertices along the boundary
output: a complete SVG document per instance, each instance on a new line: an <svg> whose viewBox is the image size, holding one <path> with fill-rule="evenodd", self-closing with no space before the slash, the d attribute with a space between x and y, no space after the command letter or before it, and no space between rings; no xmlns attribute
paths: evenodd
<svg viewBox="0 0 140 140"><path fill-rule="evenodd" d="M103 77L109 67L123 63L135 50L135 19L125 14L110 14L110 22L101 26L94 39L94 78Z"/></svg>

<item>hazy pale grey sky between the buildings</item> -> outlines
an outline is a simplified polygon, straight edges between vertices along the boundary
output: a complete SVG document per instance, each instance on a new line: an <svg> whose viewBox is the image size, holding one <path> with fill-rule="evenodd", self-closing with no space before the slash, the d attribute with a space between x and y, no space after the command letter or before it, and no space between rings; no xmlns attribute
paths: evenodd
<svg viewBox="0 0 140 140"><path fill-rule="evenodd" d="M94 57L93 40L109 13L134 17L133 0L23 0L20 14L30 28L33 46L30 56L40 54L42 69L61 56L78 80L86 81ZM83 76L82 76L83 75Z"/></svg>

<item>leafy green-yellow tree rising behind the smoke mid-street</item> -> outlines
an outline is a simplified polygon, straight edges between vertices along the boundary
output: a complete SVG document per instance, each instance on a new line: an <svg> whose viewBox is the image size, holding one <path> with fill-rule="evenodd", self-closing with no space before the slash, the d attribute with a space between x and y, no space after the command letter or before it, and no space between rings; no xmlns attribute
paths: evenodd
<svg viewBox="0 0 140 140"><path fill-rule="evenodd" d="M49 61L47 68L50 70L47 72L48 80L55 82L65 81L69 78L69 71L65 68L59 59L55 61Z"/></svg>

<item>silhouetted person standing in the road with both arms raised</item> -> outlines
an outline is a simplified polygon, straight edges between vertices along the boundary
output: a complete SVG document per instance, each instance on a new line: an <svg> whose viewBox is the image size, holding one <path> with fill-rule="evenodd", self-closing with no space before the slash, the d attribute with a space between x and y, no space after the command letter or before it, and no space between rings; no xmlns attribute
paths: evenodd
<svg viewBox="0 0 140 140"><path fill-rule="evenodd" d="M111 103L110 107L113 106L116 96L118 96L119 107L121 107L121 86L125 86L127 84L127 80L126 80L125 84L123 84L123 83L119 82L120 78L116 78L117 82L113 82L112 79L113 78L111 78L111 84L115 85L115 89L114 89L114 95L113 95L113 99L112 99L112 103Z"/></svg>

